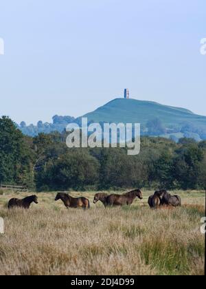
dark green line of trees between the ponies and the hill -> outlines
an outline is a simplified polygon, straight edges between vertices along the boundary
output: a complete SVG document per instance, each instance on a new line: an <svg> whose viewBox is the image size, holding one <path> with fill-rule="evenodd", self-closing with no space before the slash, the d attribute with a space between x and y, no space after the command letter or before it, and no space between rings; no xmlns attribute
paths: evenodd
<svg viewBox="0 0 206 289"><path fill-rule="evenodd" d="M141 137L141 152L69 149L67 133L25 136L0 118L0 182L36 191L126 188L205 189L206 141Z"/></svg>

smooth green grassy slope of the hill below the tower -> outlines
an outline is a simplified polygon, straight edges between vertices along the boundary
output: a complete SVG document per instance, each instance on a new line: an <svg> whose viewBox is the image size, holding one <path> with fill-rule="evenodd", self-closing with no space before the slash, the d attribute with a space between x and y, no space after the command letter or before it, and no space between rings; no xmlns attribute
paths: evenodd
<svg viewBox="0 0 206 289"><path fill-rule="evenodd" d="M198 127L206 127L206 116L198 116L190 110L124 98L116 98L84 117L95 122L139 122L144 125L148 120L159 118L165 126L191 122Z"/></svg>

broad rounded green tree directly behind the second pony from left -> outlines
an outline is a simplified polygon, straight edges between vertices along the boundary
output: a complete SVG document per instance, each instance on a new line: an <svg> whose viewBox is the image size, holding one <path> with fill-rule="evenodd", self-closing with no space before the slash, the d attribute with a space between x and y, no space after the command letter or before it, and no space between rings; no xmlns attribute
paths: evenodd
<svg viewBox="0 0 206 289"><path fill-rule="evenodd" d="M98 160L87 149L68 149L56 160L49 160L47 169L41 173L38 189L47 185L50 189L81 189L98 183Z"/></svg>

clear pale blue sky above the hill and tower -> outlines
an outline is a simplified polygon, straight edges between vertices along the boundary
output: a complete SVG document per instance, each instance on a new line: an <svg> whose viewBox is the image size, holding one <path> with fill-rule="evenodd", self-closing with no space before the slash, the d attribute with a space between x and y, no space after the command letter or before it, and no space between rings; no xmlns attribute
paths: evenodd
<svg viewBox="0 0 206 289"><path fill-rule="evenodd" d="M205 0L0 0L0 116L82 116L124 88L206 115Z"/></svg>

